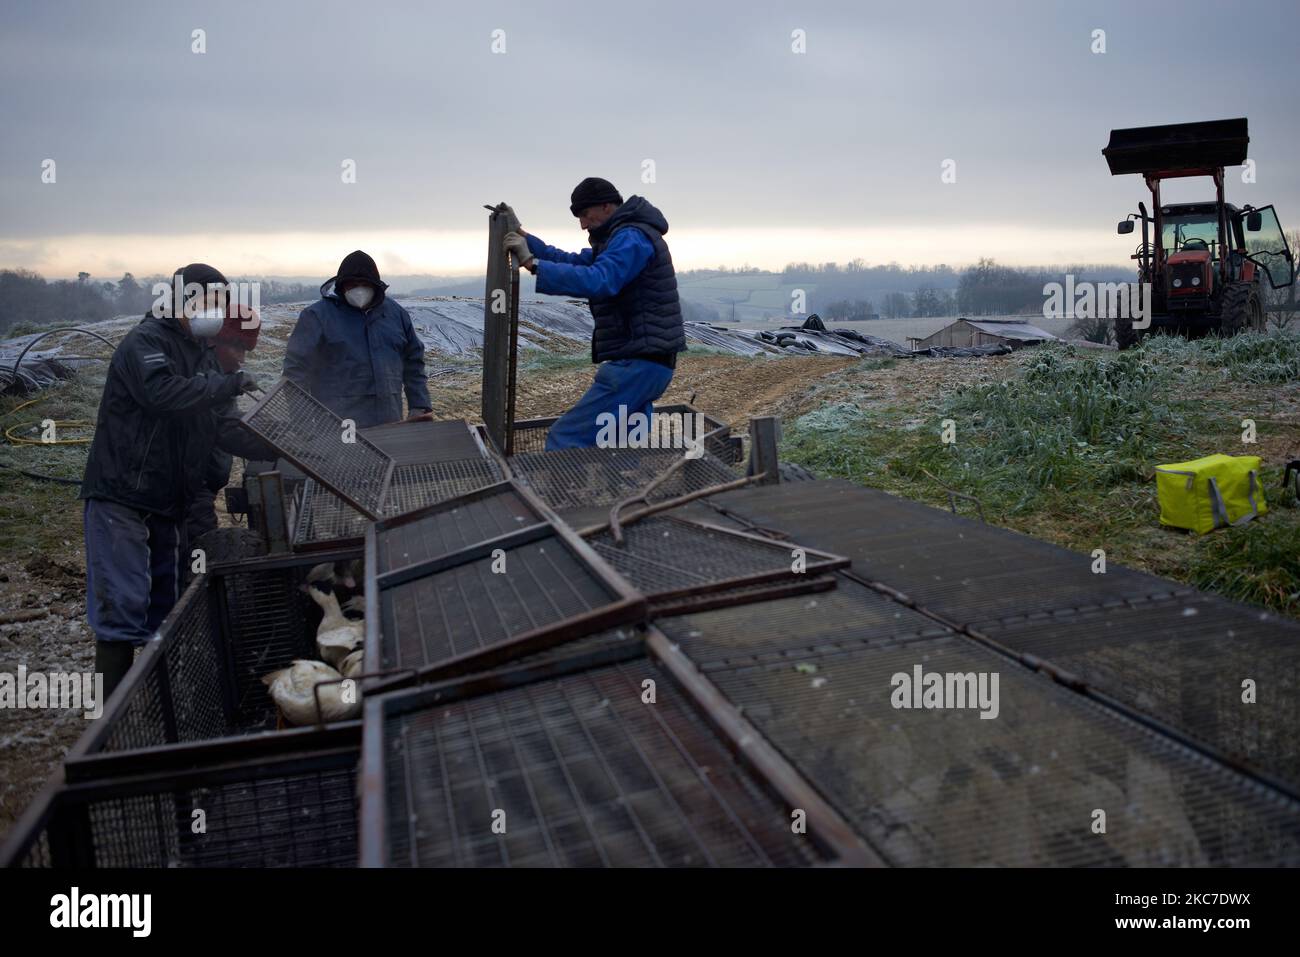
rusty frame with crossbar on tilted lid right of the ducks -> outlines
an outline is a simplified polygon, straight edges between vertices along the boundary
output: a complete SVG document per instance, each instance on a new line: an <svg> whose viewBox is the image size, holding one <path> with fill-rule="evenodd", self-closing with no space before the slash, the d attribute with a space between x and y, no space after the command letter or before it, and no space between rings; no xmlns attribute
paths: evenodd
<svg viewBox="0 0 1300 957"><path fill-rule="evenodd" d="M569 554L586 567L592 579L597 581L611 601L598 609L585 611L578 615L552 622L540 628L533 628L516 635L506 641L499 641L488 648L465 651L437 664L426 664L420 668L402 668L394 671L387 677L372 677L363 681L367 694L404 688L410 684L424 684L429 681L445 680L476 671L498 668L508 662L516 661L537 651L543 651L556 645L562 645L575 638L586 637L606 628L618 625L637 624L646 619L649 602L630 583L611 568L592 546L578 537L573 529L564 524L559 516L551 511L541 498L525 485L516 480L507 480L494 486L498 492L510 489L528 505L541 521L521 529L511 531L506 534L476 542L447 555L434 557L403 570L395 570L386 575L378 573L378 537L377 525L372 524L365 534L365 655L364 667L368 674L382 672L381 661L382 640L385 633L393 633L393 606L382 601L382 592L400 584L406 584L428 575L434 575L450 568L456 568L469 562L481 559L491 554L493 549L511 549L542 538L554 538L566 547ZM478 495L482 490L469 493ZM439 502L434 511L454 507L460 498ZM403 519L406 516L402 516Z"/></svg>

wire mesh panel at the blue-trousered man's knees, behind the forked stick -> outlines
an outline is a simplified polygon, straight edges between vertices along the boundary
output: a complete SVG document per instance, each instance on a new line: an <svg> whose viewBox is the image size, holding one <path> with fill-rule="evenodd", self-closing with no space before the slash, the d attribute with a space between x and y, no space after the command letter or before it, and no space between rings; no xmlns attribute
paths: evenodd
<svg viewBox="0 0 1300 957"><path fill-rule="evenodd" d="M563 514L628 498L681 456L679 449L566 449L524 452L510 464L546 505ZM662 502L734 478L725 464L705 452L660 485L650 501Z"/></svg>

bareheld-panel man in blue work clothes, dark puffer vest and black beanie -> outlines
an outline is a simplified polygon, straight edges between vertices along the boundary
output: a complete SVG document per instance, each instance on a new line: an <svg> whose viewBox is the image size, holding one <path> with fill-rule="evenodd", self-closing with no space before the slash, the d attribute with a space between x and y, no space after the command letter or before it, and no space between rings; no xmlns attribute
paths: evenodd
<svg viewBox="0 0 1300 957"><path fill-rule="evenodd" d="M592 387L546 434L546 450L594 446L597 416L649 420L686 348L677 274L663 241L668 221L641 196L627 203L614 183L588 177L569 198L569 212L588 230L592 247L564 252L524 231L508 205L506 247L537 276L537 291L588 300L595 328ZM619 410L623 407L623 415Z"/></svg>

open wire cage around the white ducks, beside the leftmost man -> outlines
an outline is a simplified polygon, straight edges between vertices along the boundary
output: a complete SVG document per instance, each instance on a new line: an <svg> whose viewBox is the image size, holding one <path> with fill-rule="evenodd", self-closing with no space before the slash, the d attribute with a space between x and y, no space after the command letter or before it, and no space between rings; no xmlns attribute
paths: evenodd
<svg viewBox="0 0 1300 957"><path fill-rule="evenodd" d="M65 759L69 778L165 761L178 745L244 736L276 726L263 676L315 658L320 612L300 590L320 558L214 566L190 583L144 646L103 716Z"/></svg>

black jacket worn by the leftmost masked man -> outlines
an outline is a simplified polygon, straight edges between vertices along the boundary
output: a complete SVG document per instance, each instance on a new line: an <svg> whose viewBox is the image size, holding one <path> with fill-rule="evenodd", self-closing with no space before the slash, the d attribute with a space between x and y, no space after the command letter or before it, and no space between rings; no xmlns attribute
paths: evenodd
<svg viewBox="0 0 1300 957"><path fill-rule="evenodd" d="M274 458L238 425L238 389L207 343L147 315L108 364L81 497L179 521L208 484L217 449Z"/></svg>

